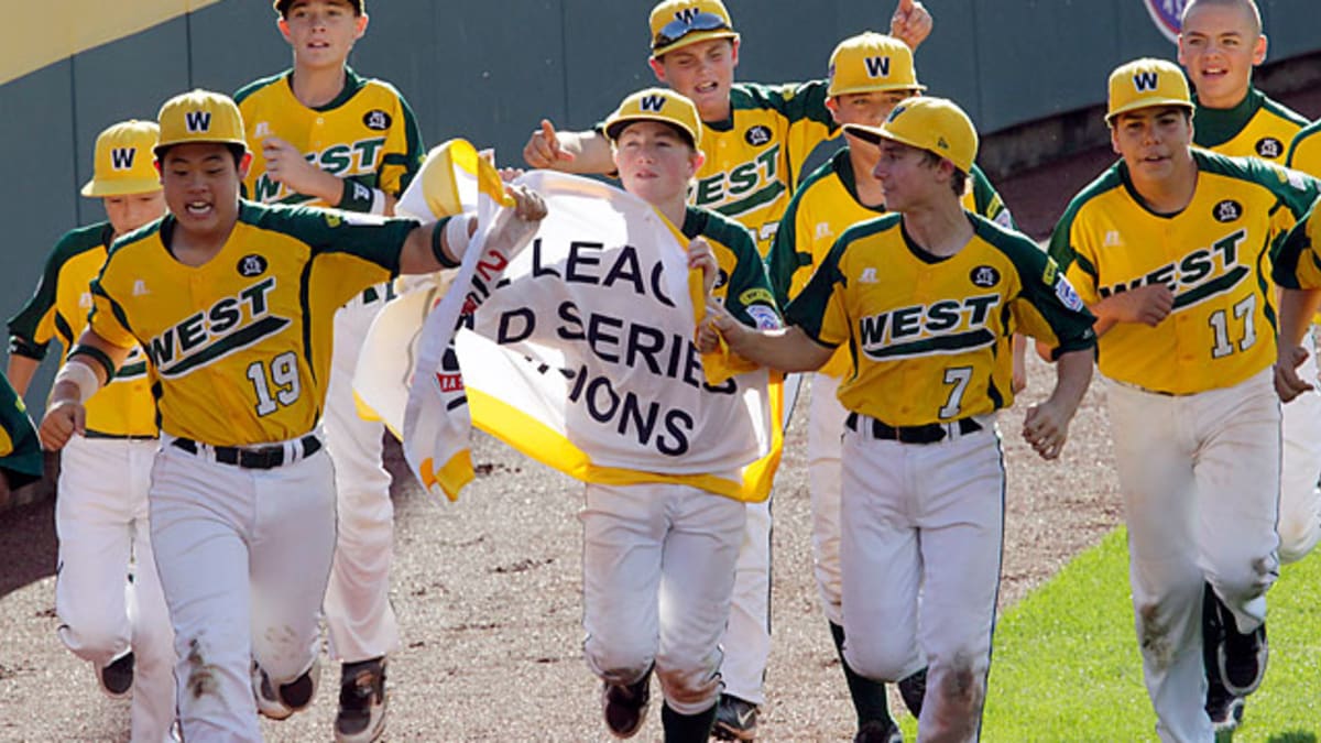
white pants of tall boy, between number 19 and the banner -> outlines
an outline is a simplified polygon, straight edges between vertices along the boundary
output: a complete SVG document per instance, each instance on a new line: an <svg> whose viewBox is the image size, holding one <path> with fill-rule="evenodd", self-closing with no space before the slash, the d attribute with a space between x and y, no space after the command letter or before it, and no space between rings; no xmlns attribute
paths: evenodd
<svg viewBox="0 0 1321 743"><path fill-rule="evenodd" d="M326 390L326 446L334 461L339 538L326 588L330 657L357 662L399 648L399 623L390 606L390 565L395 554L395 512L390 472L382 464L386 427L363 420L353 397L353 374L371 321L384 307L362 295L336 312L330 385Z"/></svg>

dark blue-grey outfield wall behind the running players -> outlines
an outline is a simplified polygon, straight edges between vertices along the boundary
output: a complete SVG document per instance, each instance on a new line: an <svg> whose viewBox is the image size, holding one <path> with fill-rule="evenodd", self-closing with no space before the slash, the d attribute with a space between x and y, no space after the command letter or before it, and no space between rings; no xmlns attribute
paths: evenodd
<svg viewBox="0 0 1321 743"><path fill-rule="evenodd" d="M0 53L0 67L15 58L44 65L0 85L0 141L12 165L0 185L8 225L0 312L7 317L30 293L59 234L103 218L99 202L77 193L90 177L98 131L155 116L178 91L232 91L289 63L266 0L132 3L132 19L119 1L32 4L0 29L0 50L9 50ZM840 38L888 28L896 3L727 4L746 42L738 78L797 81L824 75ZM935 33L917 56L921 79L931 93L959 100L988 134L1095 106L1119 62L1174 54L1141 0L926 4ZM1316 28L1310 5L1263 3L1272 59L1321 48L1309 33ZM373 0L371 24L351 63L403 90L428 144L465 136L494 145L502 163L518 164L542 116L588 127L625 94L654 82L646 66L650 7L651 0ZM151 13L162 22L149 25L144 16ZM77 53L46 63L52 48ZM13 52L21 49L46 57ZM49 374L34 383L37 391ZM28 398L40 410L40 395Z"/></svg>

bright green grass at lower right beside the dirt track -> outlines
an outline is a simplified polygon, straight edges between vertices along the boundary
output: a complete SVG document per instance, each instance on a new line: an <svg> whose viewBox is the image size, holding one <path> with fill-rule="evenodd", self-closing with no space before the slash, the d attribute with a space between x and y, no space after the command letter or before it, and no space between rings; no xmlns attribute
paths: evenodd
<svg viewBox="0 0 1321 743"><path fill-rule="evenodd" d="M1236 742L1321 734L1321 554L1287 566L1268 595L1271 665ZM905 739L915 740L904 715ZM983 740L1156 740L1128 595L1124 530L1070 562L1000 619Z"/></svg>

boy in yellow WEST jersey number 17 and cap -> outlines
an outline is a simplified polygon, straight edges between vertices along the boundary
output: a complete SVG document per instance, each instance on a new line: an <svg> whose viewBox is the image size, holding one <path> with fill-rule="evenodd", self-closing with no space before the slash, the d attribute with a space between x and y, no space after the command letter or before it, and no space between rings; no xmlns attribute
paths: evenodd
<svg viewBox="0 0 1321 743"><path fill-rule="evenodd" d="M1106 122L1120 160L1074 197L1050 243L1096 315L1162 740L1211 739L1207 670L1235 697L1266 673L1280 500L1268 268L1317 196L1305 176L1192 147L1192 116L1176 65L1137 59L1111 73ZM1203 602L1223 628L1211 669Z"/></svg>

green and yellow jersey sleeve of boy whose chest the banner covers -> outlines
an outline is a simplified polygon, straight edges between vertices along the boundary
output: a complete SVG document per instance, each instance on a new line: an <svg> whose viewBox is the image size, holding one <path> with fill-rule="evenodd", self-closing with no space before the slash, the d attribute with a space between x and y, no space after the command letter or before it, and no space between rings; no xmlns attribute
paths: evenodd
<svg viewBox="0 0 1321 743"><path fill-rule="evenodd" d="M719 267L712 297L745 325L781 327L766 268L746 227L708 209L688 206L679 231L690 241L703 237L711 246Z"/></svg>

